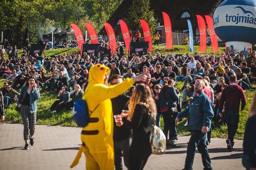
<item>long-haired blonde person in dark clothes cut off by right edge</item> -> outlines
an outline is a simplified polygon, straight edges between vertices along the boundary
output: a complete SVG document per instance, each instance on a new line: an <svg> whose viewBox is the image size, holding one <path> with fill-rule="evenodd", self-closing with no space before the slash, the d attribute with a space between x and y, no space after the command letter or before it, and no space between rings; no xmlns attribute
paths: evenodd
<svg viewBox="0 0 256 170"><path fill-rule="evenodd" d="M256 169L256 92L251 101L248 117L245 125L242 163L246 170L254 170Z"/></svg>

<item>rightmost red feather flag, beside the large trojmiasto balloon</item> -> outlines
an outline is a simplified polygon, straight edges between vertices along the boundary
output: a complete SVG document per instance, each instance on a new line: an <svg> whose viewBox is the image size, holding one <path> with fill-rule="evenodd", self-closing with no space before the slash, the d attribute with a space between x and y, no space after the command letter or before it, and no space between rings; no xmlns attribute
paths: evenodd
<svg viewBox="0 0 256 170"><path fill-rule="evenodd" d="M212 50L213 52L218 52L218 36L215 34L213 23L212 23L212 17L209 15L205 15L205 19L208 25L208 30L212 42Z"/></svg>

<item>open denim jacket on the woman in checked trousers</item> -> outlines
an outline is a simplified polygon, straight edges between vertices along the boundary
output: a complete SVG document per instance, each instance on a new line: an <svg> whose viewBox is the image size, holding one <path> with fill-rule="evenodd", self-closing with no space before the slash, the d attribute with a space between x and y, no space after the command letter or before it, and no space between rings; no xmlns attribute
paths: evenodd
<svg viewBox="0 0 256 170"><path fill-rule="evenodd" d="M20 89L20 96L18 97L18 104L22 104L22 101L25 99L25 96L27 94L27 89L29 88L29 86L23 86ZM36 88L36 90L34 90L34 88L32 88L30 94L29 94L29 107L30 107L30 112L31 113L35 113L37 111L37 105L36 105L36 100L40 99L40 92L39 92L39 88Z"/></svg>

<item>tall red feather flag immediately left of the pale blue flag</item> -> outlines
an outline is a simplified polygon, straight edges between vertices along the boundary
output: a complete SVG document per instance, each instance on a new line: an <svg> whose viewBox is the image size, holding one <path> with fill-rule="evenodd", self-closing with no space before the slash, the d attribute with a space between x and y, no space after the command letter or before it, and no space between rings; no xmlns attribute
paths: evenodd
<svg viewBox="0 0 256 170"><path fill-rule="evenodd" d="M172 49L172 24L169 15L166 12L163 13L163 22L166 35L166 48Z"/></svg>

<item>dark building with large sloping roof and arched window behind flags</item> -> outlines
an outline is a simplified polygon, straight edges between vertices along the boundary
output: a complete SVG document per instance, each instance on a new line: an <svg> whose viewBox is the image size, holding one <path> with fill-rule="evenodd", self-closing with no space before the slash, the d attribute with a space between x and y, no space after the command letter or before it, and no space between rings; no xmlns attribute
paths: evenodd
<svg viewBox="0 0 256 170"><path fill-rule="evenodd" d="M188 34L187 19L189 19L193 28L194 43L196 44L199 40L196 15L201 15L203 17L205 15L212 16L216 7L218 7L222 1L224 0L150 0L150 8L151 10L154 10L153 19L157 19L157 22L159 22L159 25L156 26L156 31L159 31L159 34L162 37L165 37L164 27L161 27L164 25L162 12L168 13L171 19L173 33ZM123 0L107 21L112 25L117 38L121 34L120 23L118 20L123 19L125 21L132 4L132 0ZM99 34L106 35L105 27L101 29Z"/></svg>

